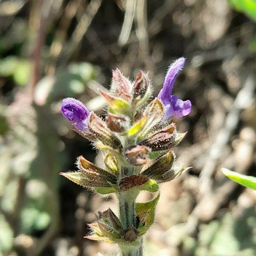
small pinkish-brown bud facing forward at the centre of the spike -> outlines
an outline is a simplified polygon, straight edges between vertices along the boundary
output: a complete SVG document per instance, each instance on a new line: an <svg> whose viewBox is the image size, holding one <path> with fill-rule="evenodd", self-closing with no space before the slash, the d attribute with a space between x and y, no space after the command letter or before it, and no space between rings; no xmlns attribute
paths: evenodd
<svg viewBox="0 0 256 256"><path fill-rule="evenodd" d="M129 163L132 165L142 165L148 160L148 153L151 151L150 148L145 145L137 145L128 148L125 151L125 157Z"/></svg>

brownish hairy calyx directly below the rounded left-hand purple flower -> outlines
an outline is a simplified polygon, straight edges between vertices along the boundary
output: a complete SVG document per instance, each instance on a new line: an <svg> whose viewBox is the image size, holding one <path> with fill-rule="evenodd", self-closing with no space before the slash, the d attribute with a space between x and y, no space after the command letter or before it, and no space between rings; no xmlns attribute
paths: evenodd
<svg viewBox="0 0 256 256"><path fill-rule="evenodd" d="M120 140L111 132L107 124L93 113L93 111L88 117L88 128L89 131L105 145L111 146L115 149L122 148Z"/></svg>

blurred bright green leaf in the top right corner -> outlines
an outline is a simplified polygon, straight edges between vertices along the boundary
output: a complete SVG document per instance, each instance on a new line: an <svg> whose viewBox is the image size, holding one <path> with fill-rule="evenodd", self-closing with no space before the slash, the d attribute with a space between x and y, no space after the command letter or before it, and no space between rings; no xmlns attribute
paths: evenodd
<svg viewBox="0 0 256 256"><path fill-rule="evenodd" d="M256 21L256 0L229 0L239 12L243 12L248 17Z"/></svg>

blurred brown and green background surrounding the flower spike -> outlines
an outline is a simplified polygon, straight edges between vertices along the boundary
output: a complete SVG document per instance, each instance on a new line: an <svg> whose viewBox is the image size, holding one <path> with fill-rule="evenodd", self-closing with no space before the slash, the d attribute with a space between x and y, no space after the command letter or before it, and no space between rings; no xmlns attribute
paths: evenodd
<svg viewBox="0 0 256 256"><path fill-rule="evenodd" d="M255 256L256 193L220 167L256 176L256 0L0 0L0 256L114 255L83 238L116 199L58 175L101 155L60 114L76 97L99 115L111 70L187 64L174 92L192 113L177 162L193 168L161 186L146 256ZM140 196L145 200L147 194Z"/></svg>

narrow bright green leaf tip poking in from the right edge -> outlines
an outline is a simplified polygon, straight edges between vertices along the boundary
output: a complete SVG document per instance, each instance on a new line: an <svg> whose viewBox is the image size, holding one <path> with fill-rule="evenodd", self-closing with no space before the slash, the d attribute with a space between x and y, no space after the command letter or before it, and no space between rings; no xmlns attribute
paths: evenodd
<svg viewBox="0 0 256 256"><path fill-rule="evenodd" d="M237 172L230 171L226 168L222 168L221 171L231 180L234 180L237 183L246 186L249 189L256 190L256 177L243 175Z"/></svg>

